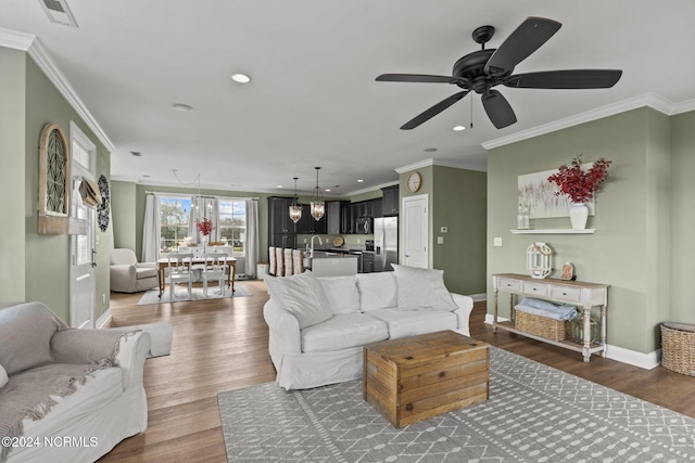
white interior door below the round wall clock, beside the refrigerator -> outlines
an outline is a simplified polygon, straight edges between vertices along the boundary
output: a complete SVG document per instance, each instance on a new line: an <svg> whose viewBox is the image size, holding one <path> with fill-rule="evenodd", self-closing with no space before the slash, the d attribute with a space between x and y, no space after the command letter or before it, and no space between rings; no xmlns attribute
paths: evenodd
<svg viewBox="0 0 695 463"><path fill-rule="evenodd" d="M403 263L408 267L429 267L428 195L403 198Z"/></svg>

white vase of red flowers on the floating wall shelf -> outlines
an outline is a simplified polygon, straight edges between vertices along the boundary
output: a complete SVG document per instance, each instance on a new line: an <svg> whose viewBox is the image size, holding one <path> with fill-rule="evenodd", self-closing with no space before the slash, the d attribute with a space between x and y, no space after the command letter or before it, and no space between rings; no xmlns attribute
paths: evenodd
<svg viewBox="0 0 695 463"><path fill-rule="evenodd" d="M582 155L578 155L572 163L561 165L557 173L547 178L555 183L559 191L556 195L567 195L571 202L569 218L573 230L584 230L589 217L586 202L594 197L594 193L608 178L608 167L611 162L605 158L596 160L587 170L582 168Z"/></svg>

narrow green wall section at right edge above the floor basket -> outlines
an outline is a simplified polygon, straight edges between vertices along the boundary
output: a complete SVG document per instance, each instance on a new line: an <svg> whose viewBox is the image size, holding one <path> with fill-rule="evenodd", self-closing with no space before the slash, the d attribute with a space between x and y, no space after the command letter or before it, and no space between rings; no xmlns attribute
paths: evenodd
<svg viewBox="0 0 695 463"><path fill-rule="evenodd" d="M671 305L669 319L695 323L695 112L671 117Z"/></svg>

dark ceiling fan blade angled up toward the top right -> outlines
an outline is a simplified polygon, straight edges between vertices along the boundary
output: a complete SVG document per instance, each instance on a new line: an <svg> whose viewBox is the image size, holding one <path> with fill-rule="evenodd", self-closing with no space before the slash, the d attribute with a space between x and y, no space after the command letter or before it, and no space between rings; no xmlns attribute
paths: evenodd
<svg viewBox="0 0 695 463"><path fill-rule="evenodd" d="M529 17L500 46L485 63L485 74L503 76L545 43L563 25L544 17Z"/></svg>

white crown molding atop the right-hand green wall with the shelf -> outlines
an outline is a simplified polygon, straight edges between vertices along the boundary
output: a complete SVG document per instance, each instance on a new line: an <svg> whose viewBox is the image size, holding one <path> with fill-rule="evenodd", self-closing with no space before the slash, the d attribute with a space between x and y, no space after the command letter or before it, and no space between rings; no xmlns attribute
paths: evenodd
<svg viewBox="0 0 695 463"><path fill-rule="evenodd" d="M675 104L657 93L645 93L628 100L619 101L615 104L608 104L596 110L587 111L576 116L566 117L564 119L559 119L549 124L544 124L529 130L523 130L506 137L501 137L498 139L481 143L481 146L489 151L495 147L504 146L506 144L528 140L534 137L566 129L568 127L578 126L580 124L590 123L592 120L602 119L604 117L614 116L616 114L624 113L627 111L632 111L644 106L656 110L660 113L666 114L667 116L673 116L695 110L695 100Z"/></svg>

